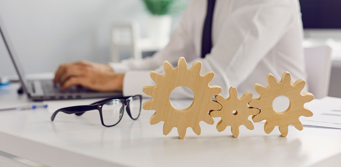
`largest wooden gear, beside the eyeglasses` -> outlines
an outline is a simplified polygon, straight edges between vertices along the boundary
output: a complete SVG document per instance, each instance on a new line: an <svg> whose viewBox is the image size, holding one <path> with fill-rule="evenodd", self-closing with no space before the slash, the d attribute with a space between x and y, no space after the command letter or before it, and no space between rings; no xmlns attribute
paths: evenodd
<svg viewBox="0 0 341 167"><path fill-rule="evenodd" d="M191 127L195 134L201 134L199 122L213 124L210 110L220 110L221 105L212 100L222 89L220 86L209 86L214 73L212 71L200 75L201 62L196 61L191 69L187 69L186 60L180 57L178 67L173 69L167 61L163 62L165 74L151 71L150 77L155 82L154 86L144 86L143 92L152 96L151 100L143 103L144 110L155 110L150 117L150 124L164 121L163 134L167 135L173 127L178 129L181 139L186 135L186 129ZM194 94L192 104L185 109L178 109L169 101L172 91L179 86L189 87Z"/></svg>

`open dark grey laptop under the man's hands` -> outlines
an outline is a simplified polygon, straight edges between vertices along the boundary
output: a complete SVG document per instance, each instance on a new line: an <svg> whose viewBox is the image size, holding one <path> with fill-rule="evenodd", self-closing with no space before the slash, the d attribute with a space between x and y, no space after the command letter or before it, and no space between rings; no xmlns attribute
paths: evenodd
<svg viewBox="0 0 341 167"><path fill-rule="evenodd" d="M34 101L42 100L61 100L61 99L85 99L85 98L107 98L122 97L122 92L99 92L85 87L72 86L65 91L60 90L59 84L56 85L52 80L27 80L25 73L20 64L18 56L14 51L14 47L10 42L8 33L4 29L4 22L0 18L0 33L4 41L5 47L11 57L19 80L22 84L23 91Z"/></svg>

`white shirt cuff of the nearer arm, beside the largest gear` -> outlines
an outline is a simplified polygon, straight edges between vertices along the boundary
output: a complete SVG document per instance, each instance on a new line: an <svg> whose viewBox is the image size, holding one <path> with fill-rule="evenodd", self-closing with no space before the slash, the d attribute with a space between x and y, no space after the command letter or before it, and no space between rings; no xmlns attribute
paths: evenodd
<svg viewBox="0 0 341 167"><path fill-rule="evenodd" d="M123 78L123 96L147 95L142 88L146 85L154 85L154 81L149 76L150 71L128 71Z"/></svg>

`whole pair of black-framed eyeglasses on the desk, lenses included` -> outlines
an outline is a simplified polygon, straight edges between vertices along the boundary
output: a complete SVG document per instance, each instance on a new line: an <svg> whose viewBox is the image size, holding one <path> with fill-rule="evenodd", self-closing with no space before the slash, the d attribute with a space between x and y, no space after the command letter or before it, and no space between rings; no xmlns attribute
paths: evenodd
<svg viewBox="0 0 341 167"><path fill-rule="evenodd" d="M101 122L103 126L112 127L121 121L124 108L131 119L136 120L141 113L142 96L135 95L129 97L122 97L119 99L108 98L90 105L79 105L72 107L60 108L51 116L53 121L58 112L66 114L82 115L86 111L98 110L100 112Z"/></svg>

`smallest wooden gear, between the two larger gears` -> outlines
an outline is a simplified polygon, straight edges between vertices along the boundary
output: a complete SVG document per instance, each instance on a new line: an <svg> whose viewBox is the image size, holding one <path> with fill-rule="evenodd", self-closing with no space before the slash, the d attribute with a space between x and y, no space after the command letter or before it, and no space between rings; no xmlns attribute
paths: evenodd
<svg viewBox="0 0 341 167"><path fill-rule="evenodd" d="M260 110L248 106L252 99L252 94L249 91L244 93L241 98L238 98L238 92L234 86L231 86L228 91L229 97L227 99L220 94L216 96L216 100L222 105L222 108L219 111L210 111L210 115L212 117L221 117L221 120L217 123L218 132L222 132L227 126L231 126L233 137L238 137L241 125L253 130L253 123L248 117L259 114Z"/></svg>

